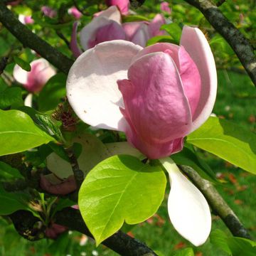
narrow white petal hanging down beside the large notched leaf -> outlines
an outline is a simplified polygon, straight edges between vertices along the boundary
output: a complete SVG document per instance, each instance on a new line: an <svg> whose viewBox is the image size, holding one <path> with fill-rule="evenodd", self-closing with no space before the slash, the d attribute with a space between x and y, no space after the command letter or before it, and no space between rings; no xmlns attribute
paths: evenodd
<svg viewBox="0 0 256 256"><path fill-rule="evenodd" d="M170 158L161 159L169 173L171 191L168 212L174 228L193 245L202 245L210 234L210 209L201 191L191 183Z"/></svg>

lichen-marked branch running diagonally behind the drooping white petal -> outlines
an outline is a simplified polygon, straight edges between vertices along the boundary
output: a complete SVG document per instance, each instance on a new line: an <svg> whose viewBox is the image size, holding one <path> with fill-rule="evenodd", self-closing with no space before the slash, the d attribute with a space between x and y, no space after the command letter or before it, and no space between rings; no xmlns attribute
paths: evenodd
<svg viewBox="0 0 256 256"><path fill-rule="evenodd" d="M183 171L188 178L193 181L193 183L198 187L198 189L203 193L203 196L206 197L212 210L217 213L220 218L223 220L225 225L229 228L230 232L234 236L241 238L250 238L250 234L247 229L242 225L238 216L235 215L233 210L230 209L228 204L224 201L222 196L218 193L216 188L210 183L201 178L201 176L189 166L179 166L181 171Z"/></svg>

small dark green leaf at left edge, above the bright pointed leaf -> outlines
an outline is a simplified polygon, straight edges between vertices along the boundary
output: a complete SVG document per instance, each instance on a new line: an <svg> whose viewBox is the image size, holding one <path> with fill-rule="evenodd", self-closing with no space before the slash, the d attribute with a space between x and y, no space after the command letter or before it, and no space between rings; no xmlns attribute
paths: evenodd
<svg viewBox="0 0 256 256"><path fill-rule="evenodd" d="M23 104L21 97L21 88L7 87L6 90L0 92L0 108L5 109L14 103Z"/></svg>

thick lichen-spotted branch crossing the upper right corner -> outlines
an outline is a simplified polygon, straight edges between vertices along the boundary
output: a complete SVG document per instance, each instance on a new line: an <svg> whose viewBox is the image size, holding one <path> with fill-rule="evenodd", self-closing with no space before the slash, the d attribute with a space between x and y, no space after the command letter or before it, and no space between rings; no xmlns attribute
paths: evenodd
<svg viewBox="0 0 256 256"><path fill-rule="evenodd" d="M220 33L235 51L252 82L256 85L256 57L250 42L228 21L223 13L209 0L185 0L195 6L206 17L209 23Z"/></svg>

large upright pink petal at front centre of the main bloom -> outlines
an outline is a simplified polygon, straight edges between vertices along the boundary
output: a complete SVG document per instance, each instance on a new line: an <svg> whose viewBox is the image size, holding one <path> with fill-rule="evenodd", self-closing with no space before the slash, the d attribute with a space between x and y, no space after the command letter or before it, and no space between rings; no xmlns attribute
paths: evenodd
<svg viewBox="0 0 256 256"><path fill-rule="evenodd" d="M151 159L181 148L191 129L191 111L174 60L166 53L144 55L131 65L128 78L117 83L129 141Z"/></svg>

